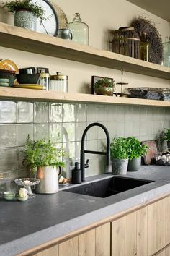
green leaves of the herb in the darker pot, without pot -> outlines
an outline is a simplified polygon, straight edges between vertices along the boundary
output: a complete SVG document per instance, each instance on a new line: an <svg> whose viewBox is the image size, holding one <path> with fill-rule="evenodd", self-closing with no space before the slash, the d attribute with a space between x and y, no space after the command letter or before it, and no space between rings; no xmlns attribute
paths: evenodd
<svg viewBox="0 0 170 256"><path fill-rule="evenodd" d="M135 137L128 137L128 158L139 158L147 153L148 145L141 145L140 141Z"/></svg>

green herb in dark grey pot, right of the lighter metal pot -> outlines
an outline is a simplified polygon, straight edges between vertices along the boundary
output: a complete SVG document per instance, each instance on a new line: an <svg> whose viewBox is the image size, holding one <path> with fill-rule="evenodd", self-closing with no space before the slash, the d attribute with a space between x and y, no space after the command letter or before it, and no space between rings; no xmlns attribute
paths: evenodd
<svg viewBox="0 0 170 256"><path fill-rule="evenodd" d="M141 145L135 137L128 137L128 171L138 171L141 165L141 156L145 155L148 145Z"/></svg>

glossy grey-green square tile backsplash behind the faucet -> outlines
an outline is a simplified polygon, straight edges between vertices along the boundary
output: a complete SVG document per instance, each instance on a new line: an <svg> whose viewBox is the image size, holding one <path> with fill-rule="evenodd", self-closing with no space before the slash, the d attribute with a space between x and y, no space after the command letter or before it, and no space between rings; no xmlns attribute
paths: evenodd
<svg viewBox="0 0 170 256"><path fill-rule="evenodd" d="M135 136L139 140L153 140L164 128L170 127L170 108L149 106L120 106L80 103L47 103L0 101L0 192L11 186L19 176L27 176L22 166L22 147L30 137L42 137L58 142L68 153L63 159L63 174L71 175L71 168L79 161L81 136L88 124L101 122L110 137ZM92 127L86 136L89 150L104 150L105 135L100 127ZM103 171L104 157L86 155L89 168L86 176Z"/></svg>

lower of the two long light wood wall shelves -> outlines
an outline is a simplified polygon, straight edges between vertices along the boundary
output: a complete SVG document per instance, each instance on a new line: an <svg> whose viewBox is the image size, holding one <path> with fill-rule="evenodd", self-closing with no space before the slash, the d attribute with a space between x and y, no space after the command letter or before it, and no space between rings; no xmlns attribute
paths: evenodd
<svg viewBox="0 0 170 256"><path fill-rule="evenodd" d="M18 101L57 101L66 103L105 103L170 107L170 101L153 101L140 98L136 99L109 97L83 93L57 93L50 90L45 91L6 87L0 87L0 98L4 100L13 99Z"/></svg>

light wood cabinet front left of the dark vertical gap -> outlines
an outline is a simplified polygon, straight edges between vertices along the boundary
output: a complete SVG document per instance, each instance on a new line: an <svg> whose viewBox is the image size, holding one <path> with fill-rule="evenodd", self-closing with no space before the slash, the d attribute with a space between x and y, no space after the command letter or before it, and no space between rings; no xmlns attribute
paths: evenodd
<svg viewBox="0 0 170 256"><path fill-rule="evenodd" d="M86 231L34 256L109 256L110 223Z"/></svg>

